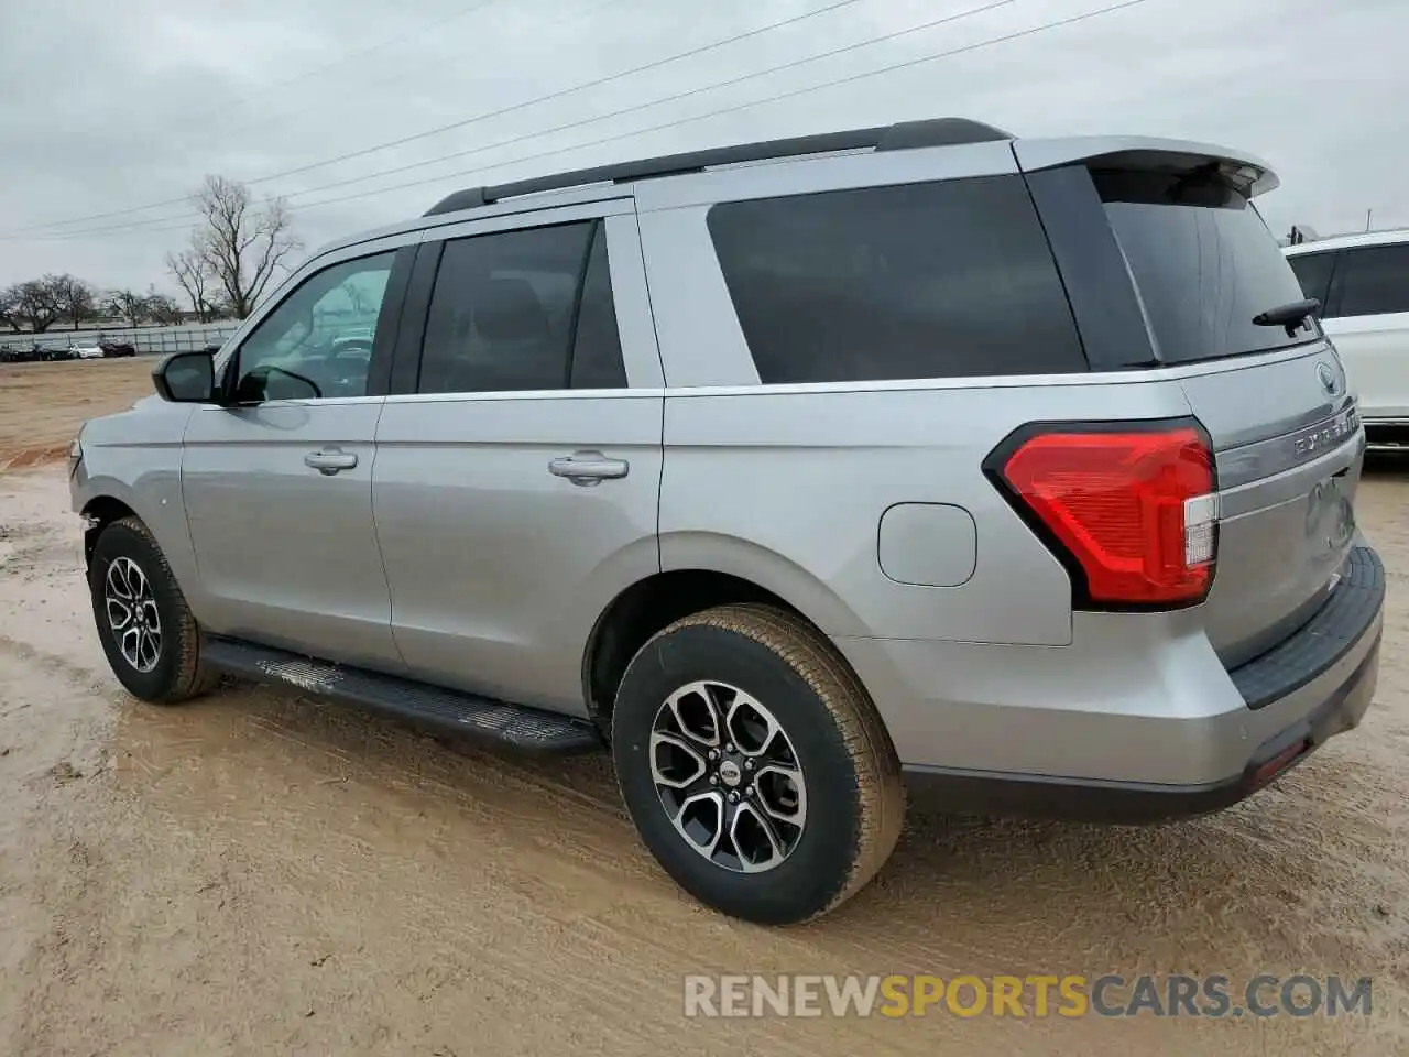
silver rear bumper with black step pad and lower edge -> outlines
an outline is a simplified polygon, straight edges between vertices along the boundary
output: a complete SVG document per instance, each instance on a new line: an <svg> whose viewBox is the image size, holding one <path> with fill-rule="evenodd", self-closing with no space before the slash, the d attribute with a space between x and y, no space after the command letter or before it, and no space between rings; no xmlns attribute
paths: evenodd
<svg viewBox="0 0 1409 1057"><path fill-rule="evenodd" d="M1227 808L1360 723L1378 681L1384 593L1379 557L1354 548L1322 610L1231 671L1202 636L1089 644L1127 627L1110 620L1074 637L1065 660L1064 648L968 644L967 661L940 648L937 668L923 648L936 644L838 645L871 688L917 798L955 812L1157 822ZM1146 630L1155 629L1178 623ZM1006 667L981 674L975 661ZM917 696L913 679L943 686L943 667L952 696Z"/></svg>

